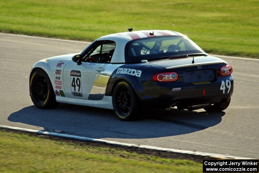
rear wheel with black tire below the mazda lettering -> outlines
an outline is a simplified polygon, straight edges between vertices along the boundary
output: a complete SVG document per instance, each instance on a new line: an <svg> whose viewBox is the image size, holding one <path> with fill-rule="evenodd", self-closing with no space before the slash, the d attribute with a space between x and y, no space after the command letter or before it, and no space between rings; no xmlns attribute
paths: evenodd
<svg viewBox="0 0 259 173"><path fill-rule="evenodd" d="M134 120L138 115L138 100L135 91L126 81L119 81L112 92L113 110L122 121Z"/></svg>

